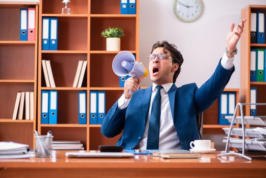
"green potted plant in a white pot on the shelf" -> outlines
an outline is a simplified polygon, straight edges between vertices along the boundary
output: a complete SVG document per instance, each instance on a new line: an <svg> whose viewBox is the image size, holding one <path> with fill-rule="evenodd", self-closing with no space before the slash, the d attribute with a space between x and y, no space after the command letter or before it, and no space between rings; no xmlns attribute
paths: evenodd
<svg viewBox="0 0 266 178"><path fill-rule="evenodd" d="M107 51L120 51L120 38L124 36L124 31L120 27L109 27L101 33L106 38Z"/></svg>

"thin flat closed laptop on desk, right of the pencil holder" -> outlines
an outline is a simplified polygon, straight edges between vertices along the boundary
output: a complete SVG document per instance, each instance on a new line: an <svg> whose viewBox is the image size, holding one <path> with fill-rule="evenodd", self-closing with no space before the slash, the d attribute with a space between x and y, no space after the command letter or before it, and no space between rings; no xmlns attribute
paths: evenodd
<svg viewBox="0 0 266 178"><path fill-rule="evenodd" d="M133 158L134 154L124 152L67 152L70 158Z"/></svg>

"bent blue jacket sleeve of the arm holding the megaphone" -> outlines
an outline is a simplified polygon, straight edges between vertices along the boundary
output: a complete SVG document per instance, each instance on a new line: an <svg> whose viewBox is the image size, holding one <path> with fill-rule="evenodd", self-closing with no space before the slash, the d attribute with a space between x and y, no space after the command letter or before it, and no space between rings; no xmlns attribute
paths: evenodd
<svg viewBox="0 0 266 178"><path fill-rule="evenodd" d="M114 137L122 132L125 124L125 109L119 109L117 102L106 114L101 126L101 133L106 137Z"/></svg>

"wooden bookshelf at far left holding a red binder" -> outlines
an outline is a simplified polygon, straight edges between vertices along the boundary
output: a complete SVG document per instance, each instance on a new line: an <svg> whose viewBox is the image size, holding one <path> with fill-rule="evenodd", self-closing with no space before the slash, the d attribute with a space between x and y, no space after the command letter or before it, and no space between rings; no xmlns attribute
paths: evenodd
<svg viewBox="0 0 266 178"><path fill-rule="evenodd" d="M20 41L20 8L36 8L35 41ZM37 123L37 2L0 2L0 141L14 141L35 148ZM12 120L19 91L34 92L34 120ZM25 106L24 106L25 108Z"/></svg>

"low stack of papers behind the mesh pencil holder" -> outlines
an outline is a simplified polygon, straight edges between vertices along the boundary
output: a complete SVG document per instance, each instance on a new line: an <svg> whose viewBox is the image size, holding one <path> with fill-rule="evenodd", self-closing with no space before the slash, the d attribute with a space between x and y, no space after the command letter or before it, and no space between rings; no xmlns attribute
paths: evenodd
<svg viewBox="0 0 266 178"><path fill-rule="evenodd" d="M81 141L53 141L53 150L84 150Z"/></svg>

